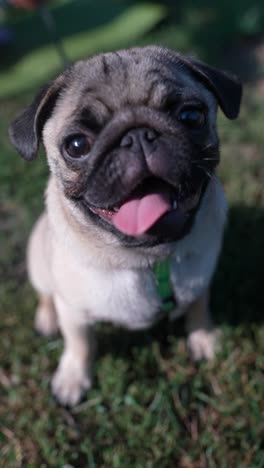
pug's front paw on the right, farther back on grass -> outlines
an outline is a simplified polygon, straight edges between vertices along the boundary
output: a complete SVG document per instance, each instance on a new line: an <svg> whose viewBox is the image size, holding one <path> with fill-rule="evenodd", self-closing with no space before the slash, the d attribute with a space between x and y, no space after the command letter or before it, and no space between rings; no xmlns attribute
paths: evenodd
<svg viewBox="0 0 264 468"><path fill-rule="evenodd" d="M213 359L219 344L218 330L199 329L190 333L187 346L194 361Z"/></svg>

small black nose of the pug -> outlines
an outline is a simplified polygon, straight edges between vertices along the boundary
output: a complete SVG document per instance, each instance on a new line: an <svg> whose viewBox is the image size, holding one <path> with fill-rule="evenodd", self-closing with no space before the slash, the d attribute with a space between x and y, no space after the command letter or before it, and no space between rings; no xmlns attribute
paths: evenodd
<svg viewBox="0 0 264 468"><path fill-rule="evenodd" d="M120 146L121 148L129 148L133 151L141 148L145 151L157 137L157 132L152 128L134 128L123 136Z"/></svg>

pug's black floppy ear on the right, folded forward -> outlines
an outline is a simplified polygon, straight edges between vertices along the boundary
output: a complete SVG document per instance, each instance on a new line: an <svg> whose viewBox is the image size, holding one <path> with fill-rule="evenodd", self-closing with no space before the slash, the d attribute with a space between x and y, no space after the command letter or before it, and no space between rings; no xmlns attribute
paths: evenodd
<svg viewBox="0 0 264 468"><path fill-rule="evenodd" d="M184 58L183 62L213 92L226 117L236 119L242 97L242 85L238 78L192 58Z"/></svg>

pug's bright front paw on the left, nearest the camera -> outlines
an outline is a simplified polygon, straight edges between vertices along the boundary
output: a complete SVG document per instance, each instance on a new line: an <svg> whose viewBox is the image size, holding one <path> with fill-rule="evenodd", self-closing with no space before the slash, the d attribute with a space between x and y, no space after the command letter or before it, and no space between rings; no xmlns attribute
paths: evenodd
<svg viewBox="0 0 264 468"><path fill-rule="evenodd" d="M65 353L52 378L51 388L56 400L63 406L74 406L91 387L87 369L76 362L76 356Z"/></svg>

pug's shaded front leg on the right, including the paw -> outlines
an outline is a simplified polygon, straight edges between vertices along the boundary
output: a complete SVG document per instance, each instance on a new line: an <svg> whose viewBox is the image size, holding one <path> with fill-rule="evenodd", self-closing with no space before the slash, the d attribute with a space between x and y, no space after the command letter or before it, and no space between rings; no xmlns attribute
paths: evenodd
<svg viewBox="0 0 264 468"><path fill-rule="evenodd" d="M187 344L195 361L212 359L216 350L218 332L214 329L208 306L208 291L186 309Z"/></svg>

